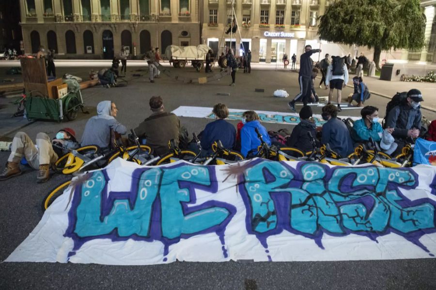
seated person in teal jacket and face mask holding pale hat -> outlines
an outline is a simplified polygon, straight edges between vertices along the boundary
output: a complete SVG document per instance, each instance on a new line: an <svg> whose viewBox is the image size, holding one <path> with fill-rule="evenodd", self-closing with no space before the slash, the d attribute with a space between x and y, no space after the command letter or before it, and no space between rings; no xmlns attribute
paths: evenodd
<svg viewBox="0 0 436 290"><path fill-rule="evenodd" d="M358 143L366 143L372 138L374 142L380 142L382 139L383 128L378 122L378 108L373 106L366 106L360 110L362 119L354 122L352 138ZM385 129L389 134L392 134L394 128ZM396 148L396 146L395 146ZM392 151L393 152L393 151ZM388 154L392 152L386 152Z"/></svg>

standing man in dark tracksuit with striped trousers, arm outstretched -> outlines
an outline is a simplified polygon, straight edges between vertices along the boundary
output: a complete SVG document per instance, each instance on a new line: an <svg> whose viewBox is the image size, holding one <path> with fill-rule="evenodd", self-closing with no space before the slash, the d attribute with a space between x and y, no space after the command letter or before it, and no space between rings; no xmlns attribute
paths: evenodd
<svg viewBox="0 0 436 290"><path fill-rule="evenodd" d="M288 103L292 111L295 110L296 101L302 101L306 106L311 99L311 77L312 77L312 59L311 55L321 52L321 49L312 49L312 46L304 47L305 53L300 57L300 71L298 72L298 83L300 85L300 92L295 96L294 100Z"/></svg>

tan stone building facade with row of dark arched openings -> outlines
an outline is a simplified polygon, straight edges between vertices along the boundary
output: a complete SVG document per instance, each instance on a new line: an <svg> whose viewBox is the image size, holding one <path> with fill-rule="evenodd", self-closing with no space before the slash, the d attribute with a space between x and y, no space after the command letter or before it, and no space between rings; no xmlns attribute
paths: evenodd
<svg viewBox="0 0 436 290"><path fill-rule="evenodd" d="M198 0L20 0L25 53L39 46L58 58L133 58L169 45L200 44Z"/></svg>

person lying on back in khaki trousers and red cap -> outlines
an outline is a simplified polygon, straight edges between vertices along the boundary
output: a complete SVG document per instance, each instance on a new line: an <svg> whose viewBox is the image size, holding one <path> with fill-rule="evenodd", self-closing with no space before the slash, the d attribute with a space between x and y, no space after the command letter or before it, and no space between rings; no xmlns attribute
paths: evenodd
<svg viewBox="0 0 436 290"><path fill-rule="evenodd" d="M50 166L56 163L58 157L76 148L78 148L76 132L71 128L59 130L51 142L46 133L38 133L36 146L26 133L18 132L12 141L11 154L3 173L0 175L0 180L20 175L19 164L24 156L31 168L39 169L36 177L37 183L45 183L50 179Z"/></svg>

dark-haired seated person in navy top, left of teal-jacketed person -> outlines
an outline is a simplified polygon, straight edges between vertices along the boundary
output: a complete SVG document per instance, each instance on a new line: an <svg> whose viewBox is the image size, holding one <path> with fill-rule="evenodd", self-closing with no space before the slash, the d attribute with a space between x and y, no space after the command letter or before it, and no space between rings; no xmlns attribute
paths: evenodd
<svg viewBox="0 0 436 290"><path fill-rule="evenodd" d="M346 157L353 153L353 141L344 122L338 119L338 108L332 104L323 107L321 116L325 121L323 125L321 143L329 144L331 150Z"/></svg>

